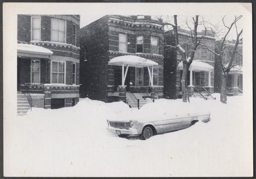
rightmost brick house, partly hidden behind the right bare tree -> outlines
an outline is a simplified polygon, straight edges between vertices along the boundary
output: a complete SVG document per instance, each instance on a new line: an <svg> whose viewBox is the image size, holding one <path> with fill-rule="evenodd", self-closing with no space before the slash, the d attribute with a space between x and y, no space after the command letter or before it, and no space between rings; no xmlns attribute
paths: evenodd
<svg viewBox="0 0 256 179"><path fill-rule="evenodd" d="M221 46L222 40L215 42L215 51L219 53L219 48ZM223 53L223 63L224 65L228 63L231 52L235 44L233 41L227 41L224 43L224 53ZM243 54L243 44L239 44L237 47L237 52ZM241 95L243 93L243 57L239 54L235 55L233 65L238 64L230 69L227 78L227 95ZM214 79L214 92L220 93L221 88L221 63L215 59L215 79Z"/></svg>

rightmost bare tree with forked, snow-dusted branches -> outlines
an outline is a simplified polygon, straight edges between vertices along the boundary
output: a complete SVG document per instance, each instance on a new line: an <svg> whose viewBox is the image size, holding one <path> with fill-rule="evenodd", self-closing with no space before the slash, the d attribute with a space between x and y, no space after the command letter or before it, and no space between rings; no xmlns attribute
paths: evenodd
<svg viewBox="0 0 256 179"><path fill-rule="evenodd" d="M208 51L215 54L215 56L217 57L216 60L218 60L218 62L221 64L221 70L220 70L221 71L221 74L220 74L220 80L221 80L220 101L222 103L225 103L225 104L227 103L227 76L228 76L228 73L229 73L229 71L232 67L240 64L240 63L237 63L237 64L233 65L235 55L238 54L238 55L242 56L242 54L240 54L237 50L238 50L238 45L242 41L242 38L240 38L240 37L243 33L243 29L240 32L238 32L238 28L237 28L237 24L236 24L237 21L241 18L242 18L242 15L235 16L234 21L229 26L227 26L226 23L225 23L225 16L222 18L222 23L223 23L224 27L227 29L227 32L225 33L224 38L221 40L220 48L216 52L213 52L212 50L207 48L207 46L200 44L201 46L205 46ZM231 29L234 26L236 28L237 37L236 37L236 40L234 41L234 48L231 50L228 62L226 64L224 64L224 62L225 62L225 60L224 60L224 50L226 48L226 46L225 46L226 38L227 38Z"/></svg>

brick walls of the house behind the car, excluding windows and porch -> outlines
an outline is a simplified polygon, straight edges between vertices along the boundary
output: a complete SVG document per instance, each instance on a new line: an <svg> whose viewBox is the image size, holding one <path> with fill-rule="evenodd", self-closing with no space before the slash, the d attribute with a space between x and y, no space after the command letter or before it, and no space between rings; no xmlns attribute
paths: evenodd
<svg viewBox="0 0 256 179"><path fill-rule="evenodd" d="M157 95L163 97L163 29L157 29L153 25L145 26L145 23L157 23L150 16L144 19L136 19L136 16L106 15L99 20L83 27L79 32L80 39L80 65L82 97L89 97L105 102L116 101L117 96L109 96L110 93L119 91L122 84L122 67L109 65L108 62L119 56L135 55L158 63L160 91ZM133 25L133 22L140 22ZM125 23L128 22L128 23ZM127 34L127 52L119 51L119 34ZM136 37L143 36L143 53L136 53ZM151 36L159 38L159 54L151 53ZM84 55L85 51L85 55ZM135 85L135 67L129 67L125 81L126 91L150 92L149 76L147 68L143 69L143 85ZM132 85L130 85L130 82ZM123 89L123 88L122 88Z"/></svg>

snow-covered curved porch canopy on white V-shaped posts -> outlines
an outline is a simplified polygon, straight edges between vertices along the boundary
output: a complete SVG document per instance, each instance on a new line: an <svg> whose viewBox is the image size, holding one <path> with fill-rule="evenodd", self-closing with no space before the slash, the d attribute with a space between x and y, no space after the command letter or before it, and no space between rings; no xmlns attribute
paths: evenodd
<svg viewBox="0 0 256 179"><path fill-rule="evenodd" d="M143 66L154 66L158 65L157 62L144 59L139 56L119 56L111 59L109 61L110 65L117 65L117 66L122 66L123 64L129 65L129 66L134 66L134 67L143 67Z"/></svg>

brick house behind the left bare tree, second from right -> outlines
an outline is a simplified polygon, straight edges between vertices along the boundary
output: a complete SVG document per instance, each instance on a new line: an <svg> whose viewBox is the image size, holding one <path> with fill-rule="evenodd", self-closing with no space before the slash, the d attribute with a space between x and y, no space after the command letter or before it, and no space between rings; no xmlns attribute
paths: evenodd
<svg viewBox="0 0 256 179"><path fill-rule="evenodd" d="M192 44L191 31L181 29L179 26L177 30L180 45L184 49L190 49ZM198 37L204 34L205 31L197 32ZM164 39L166 44L174 46L174 31L166 31ZM201 39L201 44L207 45L212 51L215 50L215 38L212 31L206 31L206 35ZM181 77L183 71L181 55L173 48L166 48L164 58L164 98L181 98ZM203 94L206 93L206 90L209 93L213 93L213 88L214 54L205 47L197 47L188 73L189 94L196 96L198 91Z"/></svg>

